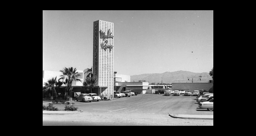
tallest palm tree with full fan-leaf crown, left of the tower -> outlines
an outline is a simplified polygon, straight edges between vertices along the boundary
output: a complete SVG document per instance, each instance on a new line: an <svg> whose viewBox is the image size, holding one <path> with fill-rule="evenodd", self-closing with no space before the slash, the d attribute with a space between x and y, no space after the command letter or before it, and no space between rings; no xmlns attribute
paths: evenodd
<svg viewBox="0 0 256 136"><path fill-rule="evenodd" d="M70 95L70 88L72 87L72 82L73 81L80 81L82 82L80 79L77 79L79 76L81 76L81 74L78 74L78 72L76 72L76 68L70 67L70 68L63 68L63 70L60 70L60 72L62 72L62 75L60 75L60 79L62 80L63 83L66 85L65 87L65 99L67 99L67 95L66 92ZM65 81L65 82L64 82Z"/></svg>

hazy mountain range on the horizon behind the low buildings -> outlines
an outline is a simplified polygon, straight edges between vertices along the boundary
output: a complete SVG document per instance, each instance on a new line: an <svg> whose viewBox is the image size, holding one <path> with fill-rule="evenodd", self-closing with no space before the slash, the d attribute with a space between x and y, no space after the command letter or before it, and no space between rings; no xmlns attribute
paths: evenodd
<svg viewBox="0 0 256 136"><path fill-rule="evenodd" d="M202 76L201 81L199 76ZM188 77L189 81L188 81ZM131 75L131 82L138 82L139 80L146 80L149 83L191 83L193 77L193 83L208 83L212 80L212 77L207 72L194 73L189 71L175 71L175 72L164 72L164 73L153 73L153 74L140 74Z"/></svg>

